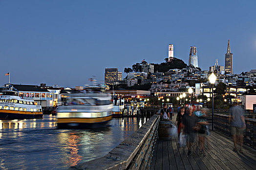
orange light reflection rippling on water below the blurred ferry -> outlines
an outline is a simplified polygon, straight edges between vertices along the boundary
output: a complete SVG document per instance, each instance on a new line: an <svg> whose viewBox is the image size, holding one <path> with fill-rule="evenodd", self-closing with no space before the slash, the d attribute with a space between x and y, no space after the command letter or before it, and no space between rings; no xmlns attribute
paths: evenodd
<svg viewBox="0 0 256 170"><path fill-rule="evenodd" d="M81 144L78 144L79 142L80 142L80 136L76 135L75 133L69 134L67 139L67 143L68 143L67 148L70 152L70 156L66 161L66 164L68 164L69 166L75 166L82 160L82 156L78 154L78 150L79 150L78 147L81 145Z"/></svg>

